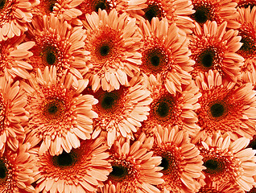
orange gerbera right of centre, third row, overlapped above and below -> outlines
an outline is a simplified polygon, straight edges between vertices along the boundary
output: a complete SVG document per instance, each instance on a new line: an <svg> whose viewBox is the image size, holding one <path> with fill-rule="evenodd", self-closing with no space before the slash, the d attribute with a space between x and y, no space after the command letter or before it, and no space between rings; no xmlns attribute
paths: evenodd
<svg viewBox="0 0 256 193"><path fill-rule="evenodd" d="M172 85L163 85L160 76L144 76L145 84L151 92L149 116L140 128L147 135L154 135L158 125L172 127L179 125L180 129L188 131L192 136L200 130L195 110L200 108L197 103L201 96L196 84L192 81L183 86L182 92L175 90Z"/></svg>

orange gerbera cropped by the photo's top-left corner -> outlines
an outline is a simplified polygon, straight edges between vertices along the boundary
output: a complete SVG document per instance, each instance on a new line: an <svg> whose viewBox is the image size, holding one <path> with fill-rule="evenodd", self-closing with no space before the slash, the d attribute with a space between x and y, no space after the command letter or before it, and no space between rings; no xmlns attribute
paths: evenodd
<svg viewBox="0 0 256 193"><path fill-rule="evenodd" d="M0 2L0 42L20 36L32 20L31 8L38 0L2 0ZM2 43L1 43L2 44Z"/></svg>

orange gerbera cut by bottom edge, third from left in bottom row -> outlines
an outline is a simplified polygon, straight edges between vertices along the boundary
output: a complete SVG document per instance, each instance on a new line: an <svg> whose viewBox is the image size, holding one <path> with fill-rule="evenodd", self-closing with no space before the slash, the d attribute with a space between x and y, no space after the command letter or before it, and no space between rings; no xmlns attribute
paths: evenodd
<svg viewBox="0 0 256 193"><path fill-rule="evenodd" d="M160 192L155 185L163 183L162 174L159 172L161 167L158 166L161 158L152 156L153 152L143 147L140 141L130 143L129 139L124 138L114 142L109 157L112 172L101 192L105 192L109 186L112 190L115 187L115 192L119 193ZM109 193L112 193L112 190Z"/></svg>

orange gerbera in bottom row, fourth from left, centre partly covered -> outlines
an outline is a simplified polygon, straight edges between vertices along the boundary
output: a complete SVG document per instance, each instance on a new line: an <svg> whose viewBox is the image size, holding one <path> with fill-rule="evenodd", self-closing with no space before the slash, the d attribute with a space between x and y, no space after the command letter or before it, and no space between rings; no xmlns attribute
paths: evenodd
<svg viewBox="0 0 256 193"><path fill-rule="evenodd" d="M188 133L179 127L167 129L159 126L155 143L151 150L162 157L164 183L157 186L170 192L195 192L200 187L196 179L204 169L202 156L195 145L189 142Z"/></svg>

